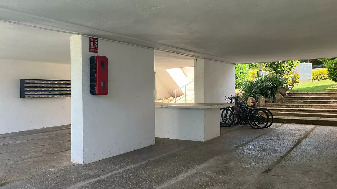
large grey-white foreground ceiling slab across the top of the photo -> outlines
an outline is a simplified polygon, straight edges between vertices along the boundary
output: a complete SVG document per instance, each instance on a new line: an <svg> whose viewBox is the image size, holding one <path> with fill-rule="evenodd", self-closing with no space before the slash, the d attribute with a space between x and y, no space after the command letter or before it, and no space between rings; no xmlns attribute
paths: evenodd
<svg viewBox="0 0 337 189"><path fill-rule="evenodd" d="M2 0L0 19L232 63L337 56L336 0Z"/></svg>

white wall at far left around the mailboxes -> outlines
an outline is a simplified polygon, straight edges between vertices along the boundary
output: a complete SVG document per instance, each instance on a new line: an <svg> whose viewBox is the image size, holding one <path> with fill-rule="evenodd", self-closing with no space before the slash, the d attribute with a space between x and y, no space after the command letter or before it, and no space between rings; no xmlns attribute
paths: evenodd
<svg viewBox="0 0 337 189"><path fill-rule="evenodd" d="M0 59L0 134L70 124L70 98L20 98L19 79L70 80L70 65Z"/></svg>

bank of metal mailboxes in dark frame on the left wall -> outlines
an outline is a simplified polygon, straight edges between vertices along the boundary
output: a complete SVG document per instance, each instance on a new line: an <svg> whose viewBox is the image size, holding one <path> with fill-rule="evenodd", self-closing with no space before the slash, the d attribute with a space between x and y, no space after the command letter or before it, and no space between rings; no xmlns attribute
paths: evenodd
<svg viewBox="0 0 337 189"><path fill-rule="evenodd" d="M20 79L20 98L70 96L70 80Z"/></svg>

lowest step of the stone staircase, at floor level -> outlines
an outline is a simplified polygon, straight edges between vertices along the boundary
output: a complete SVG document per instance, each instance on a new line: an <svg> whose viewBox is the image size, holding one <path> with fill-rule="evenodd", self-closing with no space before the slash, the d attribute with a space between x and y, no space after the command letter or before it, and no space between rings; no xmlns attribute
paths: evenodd
<svg viewBox="0 0 337 189"><path fill-rule="evenodd" d="M337 126L336 118L326 118L326 117L274 116L274 122Z"/></svg>

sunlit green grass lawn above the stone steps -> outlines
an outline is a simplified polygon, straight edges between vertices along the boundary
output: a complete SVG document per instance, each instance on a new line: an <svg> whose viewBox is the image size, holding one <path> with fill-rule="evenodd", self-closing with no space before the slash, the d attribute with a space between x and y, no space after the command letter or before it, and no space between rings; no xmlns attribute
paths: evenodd
<svg viewBox="0 0 337 189"><path fill-rule="evenodd" d="M292 92L327 92L337 91L337 83L331 80L320 80L306 83L298 83Z"/></svg>

